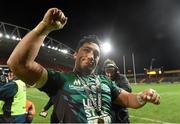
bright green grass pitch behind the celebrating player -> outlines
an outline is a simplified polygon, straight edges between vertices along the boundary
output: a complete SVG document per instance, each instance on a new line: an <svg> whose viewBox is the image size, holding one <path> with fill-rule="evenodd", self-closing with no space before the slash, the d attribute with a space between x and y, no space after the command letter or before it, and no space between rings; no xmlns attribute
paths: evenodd
<svg viewBox="0 0 180 124"><path fill-rule="evenodd" d="M143 91L146 88L155 89L161 96L161 104L147 103L143 108L130 109L131 123L180 123L180 83L176 84L132 84L133 92ZM33 123L49 123L52 108L48 116L43 118L39 112L48 101L48 96L35 88L27 89L27 98L34 102L36 115Z"/></svg>

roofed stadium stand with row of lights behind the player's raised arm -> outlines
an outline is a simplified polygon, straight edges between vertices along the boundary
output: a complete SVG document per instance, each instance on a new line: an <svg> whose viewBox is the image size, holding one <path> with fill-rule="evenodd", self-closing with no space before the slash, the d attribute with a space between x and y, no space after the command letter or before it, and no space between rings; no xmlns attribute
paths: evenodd
<svg viewBox="0 0 180 124"><path fill-rule="evenodd" d="M5 65L14 47L30 30L5 22L0 22L0 65ZM63 71L72 70L74 50L61 42L47 37L36 58L45 67Z"/></svg>

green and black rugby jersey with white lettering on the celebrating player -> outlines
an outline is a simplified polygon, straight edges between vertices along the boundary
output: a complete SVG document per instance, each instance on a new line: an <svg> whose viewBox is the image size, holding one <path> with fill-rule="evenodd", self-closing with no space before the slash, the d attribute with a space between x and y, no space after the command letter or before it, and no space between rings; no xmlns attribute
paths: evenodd
<svg viewBox="0 0 180 124"><path fill-rule="evenodd" d="M55 111L60 122L63 123L97 123L101 118L105 123L111 123L111 103L120 94L120 89L106 76L96 76L101 87L102 111L99 115L95 111L91 99L82 81L74 72L57 72L48 70L48 81L41 88L48 95L56 95ZM96 101L96 81L92 75L81 77L91 87L91 93Z"/></svg>

